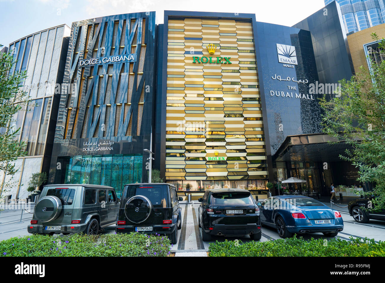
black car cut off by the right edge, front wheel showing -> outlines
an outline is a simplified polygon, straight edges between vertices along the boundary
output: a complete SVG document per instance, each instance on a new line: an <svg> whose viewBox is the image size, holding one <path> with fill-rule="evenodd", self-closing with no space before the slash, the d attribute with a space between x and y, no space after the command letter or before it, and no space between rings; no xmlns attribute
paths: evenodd
<svg viewBox="0 0 385 283"><path fill-rule="evenodd" d="M373 198L375 198L375 196L350 201L348 204L348 210L355 221L368 223L369 219L385 220L385 209L378 210L375 206L373 206L372 209L368 209L368 206Z"/></svg>

